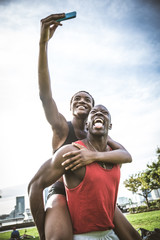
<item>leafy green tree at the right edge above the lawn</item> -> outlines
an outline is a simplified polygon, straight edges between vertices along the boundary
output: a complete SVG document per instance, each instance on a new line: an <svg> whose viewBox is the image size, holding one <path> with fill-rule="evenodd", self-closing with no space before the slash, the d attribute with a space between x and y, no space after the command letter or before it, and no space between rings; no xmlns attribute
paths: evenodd
<svg viewBox="0 0 160 240"><path fill-rule="evenodd" d="M130 176L124 181L125 187L143 196L146 200L147 207L149 208L148 195L154 189L160 188L160 148L156 150L158 160L147 164L147 169L138 174Z"/></svg>

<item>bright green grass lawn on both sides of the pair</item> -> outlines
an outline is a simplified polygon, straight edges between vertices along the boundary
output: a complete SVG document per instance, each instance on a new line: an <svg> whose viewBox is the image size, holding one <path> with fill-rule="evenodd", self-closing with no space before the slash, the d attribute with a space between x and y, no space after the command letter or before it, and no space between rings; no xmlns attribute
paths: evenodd
<svg viewBox="0 0 160 240"><path fill-rule="evenodd" d="M160 210L136 214L126 215L128 221L133 225L135 229L145 228L148 230L154 230L154 228L160 228ZM19 230L20 235L23 235L25 229ZM27 228L27 234L35 236L35 240L39 240L38 232L35 227ZM10 239L11 231L0 233L0 240Z"/></svg>

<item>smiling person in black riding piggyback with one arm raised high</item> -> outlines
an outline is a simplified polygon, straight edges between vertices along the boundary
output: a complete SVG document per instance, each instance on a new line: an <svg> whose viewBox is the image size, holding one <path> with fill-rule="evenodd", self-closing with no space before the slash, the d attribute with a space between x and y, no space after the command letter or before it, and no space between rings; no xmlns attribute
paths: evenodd
<svg viewBox="0 0 160 240"><path fill-rule="evenodd" d="M85 91L76 93L71 101L73 119L68 123L65 117L59 113L57 105L53 99L47 59L48 41L52 38L56 28L61 26L61 24L57 23L56 20L63 17L64 14L52 14L41 20L41 35L39 43L38 73L40 98L42 100L46 118L53 131L53 152L62 145L86 137L85 122L90 109L94 105L94 99L89 93ZM120 144L113 142L111 139L108 144L112 149L120 149L119 151L122 151L122 153L126 155L126 162L131 161L130 154ZM72 155L69 155L69 157L70 156ZM76 151L76 157L79 161L85 159L86 156L87 159L92 159L93 153L86 150L84 151L83 149ZM102 155L99 157L101 158ZM123 160L124 158L122 158L122 161ZM46 169L47 166L50 165L50 161L51 160L45 162L43 169ZM41 171L37 174L40 175ZM60 182L58 183L60 184ZM63 195L64 190L63 187L61 190L61 185L59 184L58 186L56 184L56 186L53 187L53 191L50 194L51 197L49 199L50 205L48 205L46 209L46 214L44 212L42 194L38 183L35 192L32 191L30 200L37 197L37 201L39 203L39 210L36 213L36 224L39 232L41 232L40 236L42 239L44 237L44 221L47 238L51 239L55 237L55 239L63 240L72 239L72 225L67 211L66 199ZM53 193L55 194L53 195ZM123 218L123 215L119 212L119 210L116 212Z"/></svg>

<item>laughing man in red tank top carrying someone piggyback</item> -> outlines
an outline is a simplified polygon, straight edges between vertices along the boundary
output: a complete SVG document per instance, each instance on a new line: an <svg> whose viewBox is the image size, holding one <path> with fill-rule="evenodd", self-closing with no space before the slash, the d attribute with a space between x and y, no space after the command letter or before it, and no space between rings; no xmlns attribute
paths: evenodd
<svg viewBox="0 0 160 240"><path fill-rule="evenodd" d="M72 101L74 104L74 101ZM77 106L81 108L81 106ZM76 108L74 114L76 114ZM90 111L87 121L87 138L61 147L52 157L49 167L41 169L41 177L35 175L30 182L29 193L36 191L33 182L39 182L44 189L56 182L61 176L64 178L67 194L67 204L73 225L74 239L118 239L115 235L113 216L116 205L118 185L120 179L119 164L111 164L113 151L108 151L107 138L111 129L111 117L106 107L97 105ZM100 161L95 159L87 166L75 171L66 170L64 155L77 147L84 147L90 151L108 153L108 158ZM116 150L115 150L116 152ZM117 159L118 159L117 152ZM37 203L38 204L38 203ZM31 211L36 216L35 205L31 201Z"/></svg>

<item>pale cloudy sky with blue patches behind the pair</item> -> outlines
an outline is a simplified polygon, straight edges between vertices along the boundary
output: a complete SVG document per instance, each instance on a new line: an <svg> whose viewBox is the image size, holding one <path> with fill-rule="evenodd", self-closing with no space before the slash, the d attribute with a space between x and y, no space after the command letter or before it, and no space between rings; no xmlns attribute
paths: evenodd
<svg viewBox="0 0 160 240"><path fill-rule="evenodd" d="M40 19L77 12L49 41L53 97L90 92L112 115L109 135L132 155L121 185L156 160L160 146L160 3L155 0L0 1L0 190L26 184L52 154L38 90ZM124 189L123 189L124 190ZM124 192L121 191L121 195Z"/></svg>

